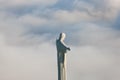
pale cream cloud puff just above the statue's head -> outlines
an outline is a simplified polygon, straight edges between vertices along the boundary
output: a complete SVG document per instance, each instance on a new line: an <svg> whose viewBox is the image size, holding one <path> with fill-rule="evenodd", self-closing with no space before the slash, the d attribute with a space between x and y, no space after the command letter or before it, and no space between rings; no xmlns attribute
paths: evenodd
<svg viewBox="0 0 120 80"><path fill-rule="evenodd" d="M75 24L80 21L93 21L92 17L85 12L60 10L54 13L54 18L59 23Z"/></svg>

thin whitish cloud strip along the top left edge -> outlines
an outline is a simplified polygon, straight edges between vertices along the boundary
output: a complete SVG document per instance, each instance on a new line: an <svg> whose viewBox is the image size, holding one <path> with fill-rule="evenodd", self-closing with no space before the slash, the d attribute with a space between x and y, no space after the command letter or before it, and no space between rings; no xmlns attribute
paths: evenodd
<svg viewBox="0 0 120 80"><path fill-rule="evenodd" d="M0 1L1 8L15 8L25 6L48 6L53 5L57 0L2 0Z"/></svg>

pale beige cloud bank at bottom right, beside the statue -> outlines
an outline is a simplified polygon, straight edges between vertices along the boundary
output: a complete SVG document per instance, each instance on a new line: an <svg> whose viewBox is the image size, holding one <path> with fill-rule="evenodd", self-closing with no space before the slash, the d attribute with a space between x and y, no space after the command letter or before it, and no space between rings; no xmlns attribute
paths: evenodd
<svg viewBox="0 0 120 80"><path fill-rule="evenodd" d="M68 55L68 72L72 79L112 80L119 79L118 58L100 48L84 46L75 49ZM115 70L117 68L117 70ZM109 73L110 72L110 73ZM112 78L112 79L111 79Z"/></svg>

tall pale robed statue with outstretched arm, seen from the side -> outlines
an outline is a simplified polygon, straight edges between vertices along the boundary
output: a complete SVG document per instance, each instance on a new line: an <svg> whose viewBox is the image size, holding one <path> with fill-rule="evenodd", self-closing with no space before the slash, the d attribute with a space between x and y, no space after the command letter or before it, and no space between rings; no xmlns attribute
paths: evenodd
<svg viewBox="0 0 120 80"><path fill-rule="evenodd" d="M66 80L66 52L70 50L64 43L65 33L60 33L56 40L57 59L58 59L58 80Z"/></svg>

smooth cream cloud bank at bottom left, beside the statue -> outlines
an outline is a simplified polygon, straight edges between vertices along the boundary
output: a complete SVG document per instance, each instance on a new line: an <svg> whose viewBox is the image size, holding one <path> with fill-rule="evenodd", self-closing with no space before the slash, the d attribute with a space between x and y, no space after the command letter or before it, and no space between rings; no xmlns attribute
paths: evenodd
<svg viewBox="0 0 120 80"><path fill-rule="evenodd" d="M57 78L56 51L49 43L38 47L9 46L1 35L0 45L1 80L55 80ZM49 53L45 48L52 50L53 53Z"/></svg>

